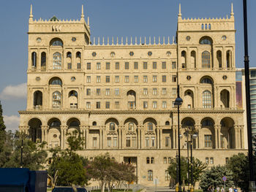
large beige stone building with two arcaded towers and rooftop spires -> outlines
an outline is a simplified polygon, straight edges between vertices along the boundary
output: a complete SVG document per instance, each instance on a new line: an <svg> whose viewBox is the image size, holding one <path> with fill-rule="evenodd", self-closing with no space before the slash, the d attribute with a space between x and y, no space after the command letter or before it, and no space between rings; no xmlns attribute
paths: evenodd
<svg viewBox="0 0 256 192"><path fill-rule="evenodd" d="M78 130L79 153L109 153L136 166L138 183L169 185L170 158L181 134L195 128L193 154L209 166L244 149L243 110L236 107L233 9L228 18L185 19L176 39L91 39L89 20L29 17L27 108L20 131L51 147ZM186 137L181 155L187 156Z"/></svg>

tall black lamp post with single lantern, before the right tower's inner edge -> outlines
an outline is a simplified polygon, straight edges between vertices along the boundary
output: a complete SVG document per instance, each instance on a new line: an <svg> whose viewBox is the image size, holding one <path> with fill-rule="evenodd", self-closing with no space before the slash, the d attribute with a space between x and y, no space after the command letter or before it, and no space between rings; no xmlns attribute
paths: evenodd
<svg viewBox="0 0 256 192"><path fill-rule="evenodd" d="M178 106L178 191L181 191L181 142L180 142L180 131L179 131L179 107L183 100L179 96L179 85L177 85L177 95L174 104Z"/></svg>

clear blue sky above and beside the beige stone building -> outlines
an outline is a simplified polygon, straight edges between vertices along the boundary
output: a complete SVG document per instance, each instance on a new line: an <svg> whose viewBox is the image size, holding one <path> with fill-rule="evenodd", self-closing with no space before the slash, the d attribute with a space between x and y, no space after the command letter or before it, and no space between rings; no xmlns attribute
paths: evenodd
<svg viewBox="0 0 256 192"><path fill-rule="evenodd" d="M90 18L91 37L173 37L178 4L182 18L219 18L230 15L233 2L236 20L236 66L244 65L242 0L9 0L0 7L0 100L9 129L18 129L18 110L26 109L26 68L30 4L34 18L80 18L81 5ZM249 59L256 66L256 1L248 0Z"/></svg>

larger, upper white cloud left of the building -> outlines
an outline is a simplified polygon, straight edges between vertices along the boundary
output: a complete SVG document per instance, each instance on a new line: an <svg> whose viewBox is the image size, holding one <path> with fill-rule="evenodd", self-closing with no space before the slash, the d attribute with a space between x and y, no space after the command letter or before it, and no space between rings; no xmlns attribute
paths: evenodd
<svg viewBox="0 0 256 192"><path fill-rule="evenodd" d="M8 85L1 91L0 99L26 99L26 83Z"/></svg>

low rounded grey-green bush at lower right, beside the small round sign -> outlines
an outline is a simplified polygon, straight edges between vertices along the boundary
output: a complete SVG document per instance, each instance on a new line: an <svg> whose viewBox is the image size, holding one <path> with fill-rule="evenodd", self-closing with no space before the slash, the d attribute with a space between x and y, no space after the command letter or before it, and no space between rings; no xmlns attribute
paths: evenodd
<svg viewBox="0 0 256 192"><path fill-rule="evenodd" d="M230 188L234 185L233 183L233 172L227 169L226 166L212 166L211 169L207 169L200 177L200 188L203 191L207 191L209 186L214 186L214 188L221 188L224 186L222 177L227 177L226 188Z"/></svg>

